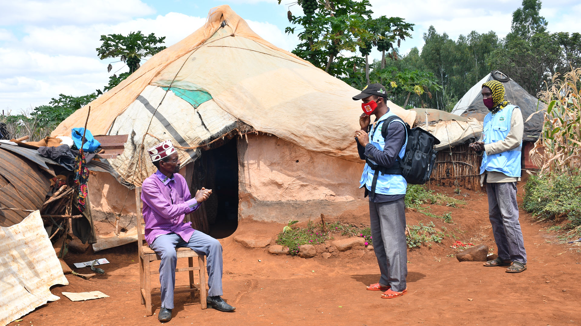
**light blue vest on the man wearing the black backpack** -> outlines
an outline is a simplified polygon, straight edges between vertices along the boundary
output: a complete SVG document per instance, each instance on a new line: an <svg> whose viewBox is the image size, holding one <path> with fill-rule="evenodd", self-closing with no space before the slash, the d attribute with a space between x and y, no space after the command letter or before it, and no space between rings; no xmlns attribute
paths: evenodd
<svg viewBox="0 0 581 326"><path fill-rule="evenodd" d="M383 151L383 147L385 147L385 139L381 135L381 125L383 124L383 120L391 117L392 115L396 114L393 114L391 111L388 111L388 113L382 115L382 117L379 118L377 122L375 122L375 128L373 128L369 134L369 142L380 151ZM401 122L400 120L394 120L390 122L390 124L393 123L403 125L403 122ZM400 158L403 158L403 155L406 153L406 144L407 139L406 143L403 144L401 150L399 151L398 155ZM370 158L367 158L367 160L370 160L372 164L376 164L376 162L371 160ZM389 166L386 167L389 168ZM360 184L359 188L363 188L363 186L366 186L368 190L371 190L371 184L373 182L374 173L375 171L371 169L367 163L365 163L365 167L363 168L363 174L361 175L361 180L359 180ZM377 183L375 186L375 193L383 195L401 195L405 194L406 190L407 182L403 176L389 174L382 175L382 173L379 173Z"/></svg>

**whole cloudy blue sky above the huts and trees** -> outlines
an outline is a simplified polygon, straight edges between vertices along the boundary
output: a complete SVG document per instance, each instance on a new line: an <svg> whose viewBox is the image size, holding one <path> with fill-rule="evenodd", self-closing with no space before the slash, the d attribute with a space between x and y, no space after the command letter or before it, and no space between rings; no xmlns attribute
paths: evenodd
<svg viewBox="0 0 581 326"><path fill-rule="evenodd" d="M401 43L401 53L417 46L433 25L450 38L493 30L504 37L512 12L521 0L370 0L374 17L402 17L415 24L413 38ZM103 89L109 76L128 71L118 59L100 60L96 48L102 34L142 31L165 36L166 46L180 41L205 23L209 10L229 5L248 21L254 32L285 50L298 44L287 10L302 13L293 0L0 0L0 110L5 114L30 112L52 97L82 96ZM551 32L581 31L581 2L544 1L541 16ZM381 53L372 51L379 59ZM371 60L371 59L370 59ZM113 70L107 73L107 65Z"/></svg>

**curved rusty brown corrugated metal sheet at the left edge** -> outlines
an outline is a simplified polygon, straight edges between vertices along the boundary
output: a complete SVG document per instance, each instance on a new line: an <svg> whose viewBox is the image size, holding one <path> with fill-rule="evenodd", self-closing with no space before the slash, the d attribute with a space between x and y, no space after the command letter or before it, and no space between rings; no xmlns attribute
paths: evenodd
<svg viewBox="0 0 581 326"><path fill-rule="evenodd" d="M50 179L35 162L0 147L0 207L40 209L50 186ZM20 223L27 215L0 209L0 226Z"/></svg>

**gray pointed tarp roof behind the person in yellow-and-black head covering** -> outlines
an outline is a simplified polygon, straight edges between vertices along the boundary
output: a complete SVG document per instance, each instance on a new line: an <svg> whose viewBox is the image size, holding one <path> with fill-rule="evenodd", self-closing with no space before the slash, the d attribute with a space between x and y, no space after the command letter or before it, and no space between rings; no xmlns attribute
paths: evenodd
<svg viewBox="0 0 581 326"><path fill-rule="evenodd" d="M540 102L535 96L530 95L525 89L518 85L517 82L508 78L507 75L498 70L486 75L480 79L476 85L472 86L468 92L462 96L460 101L454 106L452 113L462 117L473 117L483 121L489 110L482 102L482 84L487 81L496 79L503 82L506 92L506 99L512 104L521 108L522 118L525 120L523 134L524 141L535 142L539 139L541 129L543 128L543 111L547 110L547 104ZM507 80L508 79L508 80Z"/></svg>

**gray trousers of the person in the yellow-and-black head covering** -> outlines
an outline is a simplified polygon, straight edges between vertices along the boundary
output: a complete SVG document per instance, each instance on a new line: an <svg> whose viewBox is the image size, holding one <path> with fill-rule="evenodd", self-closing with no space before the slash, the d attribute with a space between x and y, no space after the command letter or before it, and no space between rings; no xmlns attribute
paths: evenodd
<svg viewBox="0 0 581 326"><path fill-rule="evenodd" d="M486 183L486 192L498 257L526 264L525 244L518 222L517 183Z"/></svg>

